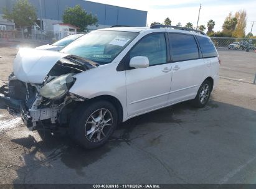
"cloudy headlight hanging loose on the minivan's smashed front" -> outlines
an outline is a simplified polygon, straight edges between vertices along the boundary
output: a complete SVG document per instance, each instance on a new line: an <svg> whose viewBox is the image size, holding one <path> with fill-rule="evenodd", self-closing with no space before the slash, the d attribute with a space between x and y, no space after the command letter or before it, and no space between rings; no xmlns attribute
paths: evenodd
<svg viewBox="0 0 256 189"><path fill-rule="evenodd" d="M62 98L73 84L72 74L62 75L47 83L40 90L40 95L49 99Z"/></svg>

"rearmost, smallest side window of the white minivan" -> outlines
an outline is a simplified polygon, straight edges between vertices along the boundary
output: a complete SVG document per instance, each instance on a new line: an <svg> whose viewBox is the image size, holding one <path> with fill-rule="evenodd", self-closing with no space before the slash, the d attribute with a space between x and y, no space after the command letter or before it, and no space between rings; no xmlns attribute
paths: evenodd
<svg viewBox="0 0 256 189"><path fill-rule="evenodd" d="M199 42L203 58L217 57L217 52L211 39L201 36L196 36L196 38Z"/></svg>

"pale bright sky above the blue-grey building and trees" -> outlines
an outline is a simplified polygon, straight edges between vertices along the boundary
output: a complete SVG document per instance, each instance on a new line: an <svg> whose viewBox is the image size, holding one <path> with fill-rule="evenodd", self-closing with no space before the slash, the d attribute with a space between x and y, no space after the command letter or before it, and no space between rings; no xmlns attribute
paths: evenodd
<svg viewBox="0 0 256 189"><path fill-rule="evenodd" d="M176 25L178 22L184 26L191 22L196 27L197 16L200 3L202 4L198 25L205 25L207 21L213 19L216 23L214 31L222 30L222 24L229 12L233 14L236 11L244 9L247 12L247 28L245 33L248 34L252 27L252 21L256 21L256 0L89 0L101 2L115 6L128 7L148 11L147 24L151 22L164 22L166 17L171 19L171 24ZM256 35L256 22L252 33Z"/></svg>

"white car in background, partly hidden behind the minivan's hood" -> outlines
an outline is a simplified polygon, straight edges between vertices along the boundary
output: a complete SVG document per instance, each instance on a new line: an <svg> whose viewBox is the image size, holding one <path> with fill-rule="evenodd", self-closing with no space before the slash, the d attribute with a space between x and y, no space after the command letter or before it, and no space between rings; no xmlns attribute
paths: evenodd
<svg viewBox="0 0 256 189"><path fill-rule="evenodd" d="M36 49L60 51L60 50L62 50L62 48L69 45L71 42L78 39L79 37L82 37L83 35L85 35L85 34L69 35L67 37L64 37L63 39L58 40L57 42L55 42L53 44L42 45L42 46L36 47Z"/></svg>

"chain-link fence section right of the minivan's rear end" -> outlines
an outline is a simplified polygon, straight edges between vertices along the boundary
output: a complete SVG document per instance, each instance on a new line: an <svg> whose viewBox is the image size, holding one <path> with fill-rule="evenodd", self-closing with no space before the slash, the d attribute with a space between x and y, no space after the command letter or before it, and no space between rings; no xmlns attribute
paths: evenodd
<svg viewBox="0 0 256 189"><path fill-rule="evenodd" d="M219 72L221 78L256 84L256 39L211 37L211 40L222 60Z"/></svg>

